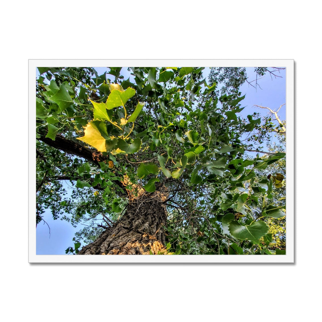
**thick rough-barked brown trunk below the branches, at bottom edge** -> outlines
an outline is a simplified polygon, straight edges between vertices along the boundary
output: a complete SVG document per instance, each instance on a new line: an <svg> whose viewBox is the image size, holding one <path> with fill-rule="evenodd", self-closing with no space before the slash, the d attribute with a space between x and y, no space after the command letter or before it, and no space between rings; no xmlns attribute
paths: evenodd
<svg viewBox="0 0 322 322"><path fill-rule="evenodd" d="M148 255L166 252L166 188L130 198L125 214L79 255Z"/></svg>

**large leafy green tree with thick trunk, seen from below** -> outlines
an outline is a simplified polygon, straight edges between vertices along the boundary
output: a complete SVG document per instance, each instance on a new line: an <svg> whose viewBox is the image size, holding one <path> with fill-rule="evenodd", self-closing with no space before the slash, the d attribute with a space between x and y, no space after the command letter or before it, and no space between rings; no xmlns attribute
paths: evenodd
<svg viewBox="0 0 322 322"><path fill-rule="evenodd" d="M260 173L285 153L246 158L261 137L243 136L271 127L203 69L39 68L36 225L45 208L90 222L78 254L276 253L263 219L285 213Z"/></svg>

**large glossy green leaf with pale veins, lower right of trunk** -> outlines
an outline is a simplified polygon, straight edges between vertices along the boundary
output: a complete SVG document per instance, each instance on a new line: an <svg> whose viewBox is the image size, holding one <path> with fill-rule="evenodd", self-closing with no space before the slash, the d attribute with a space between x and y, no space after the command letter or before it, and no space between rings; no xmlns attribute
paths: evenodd
<svg viewBox="0 0 322 322"><path fill-rule="evenodd" d="M258 243L260 237L267 234L268 226L263 221L257 221L246 226L241 225L237 221L232 221L229 223L229 232L235 238Z"/></svg>

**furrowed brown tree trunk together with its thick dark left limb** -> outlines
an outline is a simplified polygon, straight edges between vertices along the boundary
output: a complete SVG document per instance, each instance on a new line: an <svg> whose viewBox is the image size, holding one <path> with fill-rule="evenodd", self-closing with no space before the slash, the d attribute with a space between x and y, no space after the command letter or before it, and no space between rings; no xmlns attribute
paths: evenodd
<svg viewBox="0 0 322 322"><path fill-rule="evenodd" d="M81 156L99 165L107 162L108 158L102 153L82 146L79 142L71 141L59 134L53 141L42 133L40 140L51 147L66 153ZM124 194L128 195L129 204L125 214L111 227L108 227L99 238L84 246L79 255L130 255L157 254L165 252L165 232L167 211L164 202L168 197L165 186L158 185L156 191L148 193L140 186L133 185L127 177L114 181ZM131 186L131 190L126 187Z"/></svg>

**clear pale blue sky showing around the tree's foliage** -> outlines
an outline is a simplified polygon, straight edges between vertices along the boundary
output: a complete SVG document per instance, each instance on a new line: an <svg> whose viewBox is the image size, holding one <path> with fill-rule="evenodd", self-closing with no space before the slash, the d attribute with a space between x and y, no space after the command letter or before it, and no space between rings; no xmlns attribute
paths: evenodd
<svg viewBox="0 0 322 322"><path fill-rule="evenodd" d="M99 75L103 74L106 71L105 67L95 68ZM256 74L254 73L254 68L246 68L249 81L256 79ZM209 69L206 68L203 71L204 77L209 73ZM134 81L133 77L130 75L130 72L127 71L127 68L124 67L121 70L121 74L124 75L125 79L130 77L130 81ZM242 95L245 95L245 99L241 101L242 107L245 109L242 111L242 115L246 117L248 114L254 112L260 112L263 116L267 115L267 110L259 109L253 107L254 105L260 105L269 107L270 109L278 109L280 105L286 103L286 71L281 71L278 74L278 78L271 78L270 75L264 75L258 83L260 88L254 89L252 86L247 83L243 84L240 88ZM112 81L114 76L108 76ZM286 106L283 106L279 111L279 117L281 120L286 119ZM68 185L66 185L66 190L68 190ZM61 255L65 254L67 247L73 247L74 242L72 241L75 232L81 230L84 226L78 225L77 228L72 227L71 223L62 221L60 219L53 220L52 214L47 210L43 214L43 219L48 223L38 224L36 229L36 254L37 255ZM81 245L84 246L84 245Z"/></svg>

